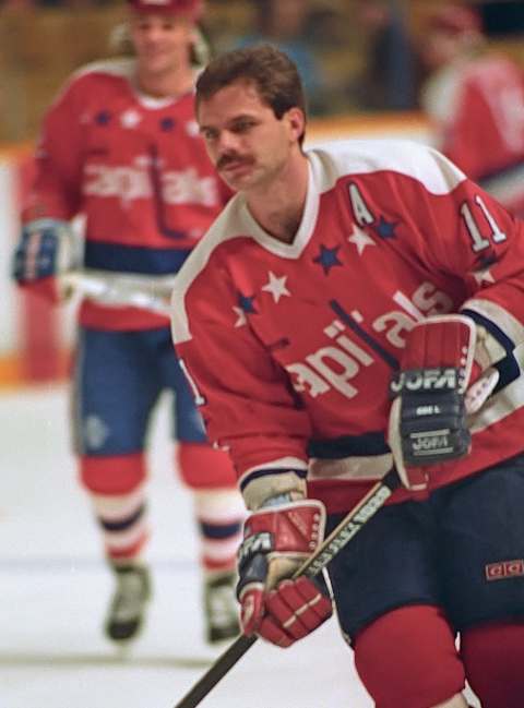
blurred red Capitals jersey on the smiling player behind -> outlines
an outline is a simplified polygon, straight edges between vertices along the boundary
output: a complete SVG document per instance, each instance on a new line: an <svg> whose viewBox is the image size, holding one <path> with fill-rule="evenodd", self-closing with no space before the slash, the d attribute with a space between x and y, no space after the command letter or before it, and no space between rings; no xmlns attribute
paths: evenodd
<svg viewBox="0 0 524 708"><path fill-rule="evenodd" d="M194 95L154 99L133 83L134 60L76 72L48 111L24 220L85 216L85 266L176 273L230 193L194 120ZM102 328L168 324L133 308L85 301L81 322Z"/></svg>

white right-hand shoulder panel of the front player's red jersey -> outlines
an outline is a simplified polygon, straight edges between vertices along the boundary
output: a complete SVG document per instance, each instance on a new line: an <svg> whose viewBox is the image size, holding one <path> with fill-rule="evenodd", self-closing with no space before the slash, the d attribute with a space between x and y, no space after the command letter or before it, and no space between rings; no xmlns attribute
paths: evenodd
<svg viewBox="0 0 524 708"><path fill-rule="evenodd" d="M412 177L432 194L446 194L465 179L444 155L408 140L347 140L319 143L307 151L315 182L329 191L342 177L391 171Z"/></svg>

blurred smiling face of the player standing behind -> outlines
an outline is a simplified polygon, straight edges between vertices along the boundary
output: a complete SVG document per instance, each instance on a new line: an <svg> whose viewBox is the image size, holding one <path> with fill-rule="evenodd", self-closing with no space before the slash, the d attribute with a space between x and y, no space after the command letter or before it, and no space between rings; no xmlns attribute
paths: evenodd
<svg viewBox="0 0 524 708"><path fill-rule="evenodd" d="M132 13L130 32L142 72L164 73L189 61L193 25L186 17Z"/></svg>

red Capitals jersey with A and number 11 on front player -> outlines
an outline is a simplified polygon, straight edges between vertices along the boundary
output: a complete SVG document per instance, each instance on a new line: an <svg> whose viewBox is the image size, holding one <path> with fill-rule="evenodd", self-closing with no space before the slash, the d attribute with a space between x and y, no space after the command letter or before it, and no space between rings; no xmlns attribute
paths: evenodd
<svg viewBox="0 0 524 708"><path fill-rule="evenodd" d="M307 479L343 511L390 469L389 384L406 334L433 314L463 310L508 357L469 421L472 453L431 468L431 484L524 449L524 225L430 147L350 141L307 156L294 242L238 194L174 292L177 351L247 503Z"/></svg>

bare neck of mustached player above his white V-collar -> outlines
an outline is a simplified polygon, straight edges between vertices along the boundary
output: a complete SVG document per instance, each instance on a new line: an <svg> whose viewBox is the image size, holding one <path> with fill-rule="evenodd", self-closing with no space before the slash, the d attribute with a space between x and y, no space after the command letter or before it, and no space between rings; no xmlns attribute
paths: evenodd
<svg viewBox="0 0 524 708"><path fill-rule="evenodd" d="M308 194L307 157L300 153L289 160L271 184L246 194L254 220L273 238L293 243L302 219Z"/></svg>

